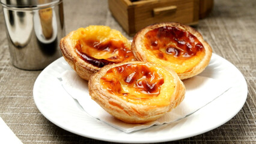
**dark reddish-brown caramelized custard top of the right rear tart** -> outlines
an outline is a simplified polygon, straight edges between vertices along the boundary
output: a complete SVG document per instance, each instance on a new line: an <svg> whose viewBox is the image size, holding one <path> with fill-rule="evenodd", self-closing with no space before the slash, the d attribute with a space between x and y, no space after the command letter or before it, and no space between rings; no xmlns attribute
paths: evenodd
<svg viewBox="0 0 256 144"><path fill-rule="evenodd" d="M177 59L189 59L204 52L203 44L190 32L163 26L145 34L145 46L159 59L168 60L169 56Z"/></svg>

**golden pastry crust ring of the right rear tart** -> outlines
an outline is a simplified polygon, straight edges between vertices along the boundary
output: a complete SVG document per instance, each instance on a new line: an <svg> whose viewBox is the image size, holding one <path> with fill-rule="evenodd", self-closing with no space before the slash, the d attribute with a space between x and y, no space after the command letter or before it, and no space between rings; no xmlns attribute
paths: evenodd
<svg viewBox="0 0 256 144"><path fill-rule="evenodd" d="M152 56L152 54L148 53L148 49L145 48L145 45L144 45L145 34L147 34L147 32L149 32L151 30L154 30L154 29L157 29L157 28L160 28L163 26L172 26L172 27L181 29L183 31L190 32L190 34L194 35L201 42L201 44L203 44L205 54L202 59L198 60L200 62L198 62L197 65L195 65L194 67L190 67L189 69L187 69L186 71L183 71L181 73L177 72L175 70L181 80L187 79L189 77L193 77L197 74L200 74L204 70L204 68L207 67L207 65L210 62L210 58L212 56L212 48L203 39L202 35L198 31L196 31L194 28L191 28L190 26L181 25L180 23L172 23L172 22L156 23L154 25L150 25L144 29L141 29L141 31L139 31L135 35L135 37L133 38L133 42L132 42L132 51L133 51L136 59L139 59L140 61L145 61L145 62L155 62L158 64L165 65L166 67L170 67L170 66L168 66L168 61L158 59L158 58L156 58L156 56ZM175 69L177 67L175 67L175 65L174 65L171 68Z"/></svg>

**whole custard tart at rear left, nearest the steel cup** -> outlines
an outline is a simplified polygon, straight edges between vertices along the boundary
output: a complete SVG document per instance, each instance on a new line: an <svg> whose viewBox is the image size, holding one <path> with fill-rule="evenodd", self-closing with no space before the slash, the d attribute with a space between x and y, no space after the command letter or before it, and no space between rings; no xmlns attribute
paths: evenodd
<svg viewBox="0 0 256 144"><path fill-rule="evenodd" d="M59 44L63 57L82 79L108 64L135 61L131 42L109 26L88 26L70 32Z"/></svg>

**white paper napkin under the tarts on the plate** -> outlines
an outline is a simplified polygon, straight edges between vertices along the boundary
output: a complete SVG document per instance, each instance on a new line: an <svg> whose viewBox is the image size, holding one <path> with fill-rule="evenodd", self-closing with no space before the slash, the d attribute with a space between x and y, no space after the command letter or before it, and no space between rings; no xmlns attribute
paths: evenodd
<svg viewBox="0 0 256 144"><path fill-rule="evenodd" d="M185 98L174 110L166 113L154 122L148 122L146 124L127 124L115 119L102 109L99 104L91 100L88 92L88 82L81 79L75 71L65 71L62 73L60 80L63 88L66 89L73 98L78 100L79 104L81 104L88 115L100 119L100 121L126 133L142 130L152 125L167 124L186 118L230 89L225 83L220 83L218 80L209 77L195 76L183 80L186 86Z"/></svg>

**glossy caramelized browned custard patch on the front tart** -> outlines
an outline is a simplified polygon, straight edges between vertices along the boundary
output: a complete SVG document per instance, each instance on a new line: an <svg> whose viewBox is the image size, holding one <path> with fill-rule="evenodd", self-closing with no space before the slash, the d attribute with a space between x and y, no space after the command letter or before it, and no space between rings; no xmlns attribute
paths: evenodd
<svg viewBox="0 0 256 144"><path fill-rule="evenodd" d="M134 102L157 97L164 79L154 67L146 64L125 64L108 70L100 83L111 94Z"/></svg>

